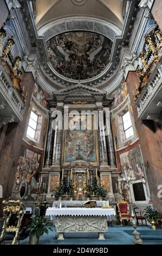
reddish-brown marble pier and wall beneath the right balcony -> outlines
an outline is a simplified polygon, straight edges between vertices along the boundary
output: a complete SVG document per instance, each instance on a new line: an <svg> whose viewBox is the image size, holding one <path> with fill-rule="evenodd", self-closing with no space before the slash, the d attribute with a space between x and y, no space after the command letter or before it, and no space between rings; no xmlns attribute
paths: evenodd
<svg viewBox="0 0 162 256"><path fill-rule="evenodd" d="M144 158L144 163L148 162L146 167L146 174L148 185L150 187L151 198L155 208L162 213L161 199L157 197L158 185L162 184L162 161L161 161L161 141L162 131L158 124L152 120L139 120L137 109L134 105L133 93L135 93L136 86L139 84L138 75L136 72L130 71L128 73L127 88L129 97L133 107L133 114L135 125L139 135L139 142Z"/></svg>

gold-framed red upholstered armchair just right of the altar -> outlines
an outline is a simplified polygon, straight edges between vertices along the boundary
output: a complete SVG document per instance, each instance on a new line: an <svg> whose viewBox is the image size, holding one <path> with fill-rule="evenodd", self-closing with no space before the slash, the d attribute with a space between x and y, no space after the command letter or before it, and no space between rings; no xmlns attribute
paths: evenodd
<svg viewBox="0 0 162 256"><path fill-rule="evenodd" d="M127 220L130 221L132 220L132 216L129 214L129 204L122 200L118 204L118 212L119 212L119 217L120 217L120 223L122 226L122 221Z"/></svg>

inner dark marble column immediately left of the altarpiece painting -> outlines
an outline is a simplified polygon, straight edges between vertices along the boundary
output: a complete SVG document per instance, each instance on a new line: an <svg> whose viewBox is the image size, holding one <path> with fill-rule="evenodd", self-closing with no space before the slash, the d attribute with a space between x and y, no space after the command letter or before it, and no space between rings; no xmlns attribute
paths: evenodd
<svg viewBox="0 0 162 256"><path fill-rule="evenodd" d="M63 127L63 107L57 107L57 111L62 113L62 118L57 119L55 126L54 145L53 145L53 162L52 165L61 164L61 145L62 145L62 129Z"/></svg>

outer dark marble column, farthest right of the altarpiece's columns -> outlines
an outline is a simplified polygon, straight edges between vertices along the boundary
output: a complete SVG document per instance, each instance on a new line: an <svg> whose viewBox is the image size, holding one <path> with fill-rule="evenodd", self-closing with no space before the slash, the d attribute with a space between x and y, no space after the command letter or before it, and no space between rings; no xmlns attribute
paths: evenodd
<svg viewBox="0 0 162 256"><path fill-rule="evenodd" d="M106 123L108 163L109 163L109 166L116 167L115 150L114 150L114 142L113 142L109 108L104 108L104 115L105 115L105 123Z"/></svg>

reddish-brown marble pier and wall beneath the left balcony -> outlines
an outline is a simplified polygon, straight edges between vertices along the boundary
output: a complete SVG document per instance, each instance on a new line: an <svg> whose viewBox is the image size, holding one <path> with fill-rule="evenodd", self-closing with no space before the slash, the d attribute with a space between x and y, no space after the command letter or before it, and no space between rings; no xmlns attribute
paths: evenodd
<svg viewBox="0 0 162 256"><path fill-rule="evenodd" d="M20 156L22 137L25 130L27 111L34 88L34 82L33 75L30 72L23 74L22 86L24 86L25 90L28 92L23 121L21 123L8 124L5 133L5 140L0 157L0 180L3 186L3 199L9 198L14 184L16 172L15 162L17 162Z"/></svg>

